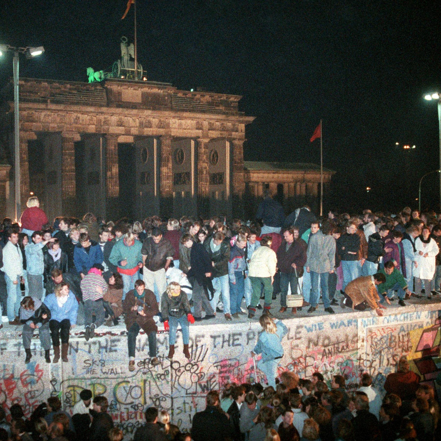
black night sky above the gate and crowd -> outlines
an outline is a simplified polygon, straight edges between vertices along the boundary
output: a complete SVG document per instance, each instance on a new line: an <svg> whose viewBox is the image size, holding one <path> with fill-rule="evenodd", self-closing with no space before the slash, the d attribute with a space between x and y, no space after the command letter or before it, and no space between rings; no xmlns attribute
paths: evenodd
<svg viewBox="0 0 441 441"><path fill-rule="evenodd" d="M133 41L127 0L2 2L0 43L44 45L20 76L87 81ZM323 119L325 206L417 206L420 177L439 168L440 2L137 0L138 60L149 80L242 95L245 160L320 161L309 142ZM0 58L0 86L12 56ZM441 90L440 90L441 91ZM416 145L404 150L395 146ZM437 174L422 207L439 206ZM366 187L372 188L369 194Z"/></svg>

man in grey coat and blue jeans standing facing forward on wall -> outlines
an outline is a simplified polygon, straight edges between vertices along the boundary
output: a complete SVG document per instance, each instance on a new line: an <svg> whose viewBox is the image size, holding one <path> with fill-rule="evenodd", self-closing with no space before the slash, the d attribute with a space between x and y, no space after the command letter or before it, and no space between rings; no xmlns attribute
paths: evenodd
<svg viewBox="0 0 441 441"><path fill-rule="evenodd" d="M311 235L306 250L306 271L311 274L311 297L308 312L317 309L317 302L320 298L318 291L318 278L320 277L321 296L325 311L335 314L331 308L328 292L329 274L334 272L335 265L335 239L332 235L324 235L320 231L318 222L311 223Z"/></svg>

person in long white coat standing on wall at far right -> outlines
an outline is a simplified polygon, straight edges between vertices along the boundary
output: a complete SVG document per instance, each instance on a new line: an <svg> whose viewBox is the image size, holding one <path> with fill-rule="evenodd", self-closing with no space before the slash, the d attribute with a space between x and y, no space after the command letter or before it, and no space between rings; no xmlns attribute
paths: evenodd
<svg viewBox="0 0 441 441"><path fill-rule="evenodd" d="M439 248L435 239L430 237L429 227L422 229L422 234L415 240L415 294L421 295L421 281L424 280L424 289L429 299L432 298L433 279L435 274L435 256Z"/></svg>

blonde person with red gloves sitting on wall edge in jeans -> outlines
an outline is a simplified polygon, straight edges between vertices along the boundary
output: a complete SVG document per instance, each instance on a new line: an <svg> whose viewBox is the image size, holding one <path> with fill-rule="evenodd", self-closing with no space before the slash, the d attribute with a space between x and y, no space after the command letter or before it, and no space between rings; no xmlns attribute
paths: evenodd
<svg viewBox="0 0 441 441"><path fill-rule="evenodd" d="M179 283L170 282L168 284L167 291L164 292L161 299L161 314L164 320L164 331L168 331L168 343L170 345L167 358L172 359L175 354L176 329L179 323L182 328L183 353L187 359L190 359L188 323L194 323L194 317L191 314L187 294L181 291Z"/></svg>

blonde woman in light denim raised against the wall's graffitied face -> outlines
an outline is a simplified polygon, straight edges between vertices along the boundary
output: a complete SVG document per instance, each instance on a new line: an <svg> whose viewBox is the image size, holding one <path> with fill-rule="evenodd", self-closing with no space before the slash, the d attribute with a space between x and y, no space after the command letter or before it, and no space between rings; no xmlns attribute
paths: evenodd
<svg viewBox="0 0 441 441"><path fill-rule="evenodd" d="M276 389L277 366L283 357L281 340L288 333L288 328L280 320L275 322L269 313L262 314L259 323L262 332L251 351L251 356L262 354L257 367L266 375L268 385Z"/></svg>

